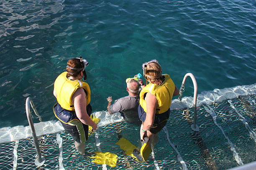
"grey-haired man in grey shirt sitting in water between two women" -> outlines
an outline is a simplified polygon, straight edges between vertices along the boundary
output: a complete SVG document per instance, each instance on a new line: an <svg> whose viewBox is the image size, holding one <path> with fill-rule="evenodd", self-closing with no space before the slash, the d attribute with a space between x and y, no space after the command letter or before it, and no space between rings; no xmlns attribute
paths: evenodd
<svg viewBox="0 0 256 170"><path fill-rule="evenodd" d="M134 78L128 79L126 90L129 95L116 100L113 105L111 105L112 97L108 97L108 112L110 114L120 112L125 122L141 125L141 120L138 117L139 88L140 84L138 81Z"/></svg>

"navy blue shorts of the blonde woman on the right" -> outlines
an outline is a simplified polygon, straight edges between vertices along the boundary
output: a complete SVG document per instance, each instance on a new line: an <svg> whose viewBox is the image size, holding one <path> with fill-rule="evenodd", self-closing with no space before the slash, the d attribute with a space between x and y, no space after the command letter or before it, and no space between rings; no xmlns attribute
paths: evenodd
<svg viewBox="0 0 256 170"><path fill-rule="evenodd" d="M146 120L146 112L141 107L141 105L138 106L138 116L141 119L142 123ZM168 109L166 112L161 114L155 114L155 120L153 125L150 128L151 133L159 133L162 128L166 125L167 120L169 119L170 115L170 109Z"/></svg>

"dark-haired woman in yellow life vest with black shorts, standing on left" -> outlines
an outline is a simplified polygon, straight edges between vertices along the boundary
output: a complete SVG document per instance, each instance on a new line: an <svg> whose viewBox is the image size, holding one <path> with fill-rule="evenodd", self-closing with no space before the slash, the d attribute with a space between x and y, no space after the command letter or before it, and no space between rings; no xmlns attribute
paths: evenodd
<svg viewBox="0 0 256 170"><path fill-rule="evenodd" d="M88 140L88 125L92 131L97 124L90 118L90 87L82 81L86 79L85 67L87 60L73 58L67 62L67 72L62 72L54 82L54 96L57 99L54 105L54 114L61 121L63 128L72 135L75 148L83 155L85 142Z"/></svg>

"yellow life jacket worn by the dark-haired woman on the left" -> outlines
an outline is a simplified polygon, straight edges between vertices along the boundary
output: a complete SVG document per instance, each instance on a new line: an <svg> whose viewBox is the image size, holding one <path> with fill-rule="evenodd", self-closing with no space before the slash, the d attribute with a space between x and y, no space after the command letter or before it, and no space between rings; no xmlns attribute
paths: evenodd
<svg viewBox="0 0 256 170"><path fill-rule="evenodd" d="M86 105L89 105L91 100L91 90L87 82L80 80L69 80L66 76L67 72L62 72L54 82L54 89L57 94L57 101L59 105L66 110L74 110L72 96L80 87L86 90Z"/></svg>

